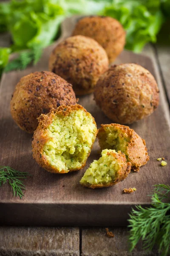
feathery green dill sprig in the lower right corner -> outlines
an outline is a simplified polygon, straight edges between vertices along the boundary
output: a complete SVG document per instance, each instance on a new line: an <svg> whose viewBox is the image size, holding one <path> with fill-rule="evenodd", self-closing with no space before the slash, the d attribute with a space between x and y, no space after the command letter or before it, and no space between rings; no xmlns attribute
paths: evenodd
<svg viewBox="0 0 170 256"><path fill-rule="evenodd" d="M130 219L130 251L138 241L143 241L143 249L151 251L154 245L159 247L162 256L170 255L170 186L155 185L152 206L132 209Z"/></svg>

